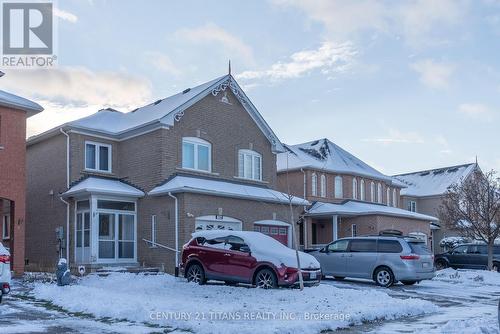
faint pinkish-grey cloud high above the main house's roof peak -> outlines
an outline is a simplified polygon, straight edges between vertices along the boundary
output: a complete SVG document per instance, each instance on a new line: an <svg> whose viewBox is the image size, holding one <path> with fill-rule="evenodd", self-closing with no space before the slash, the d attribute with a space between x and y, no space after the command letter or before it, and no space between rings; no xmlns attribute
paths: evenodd
<svg viewBox="0 0 500 334"><path fill-rule="evenodd" d="M204 26L193 29L180 29L174 33L177 40L188 41L195 44L215 43L223 47L228 58L239 56L247 64L254 64L253 51L240 38L222 29L214 23L207 23Z"/></svg>

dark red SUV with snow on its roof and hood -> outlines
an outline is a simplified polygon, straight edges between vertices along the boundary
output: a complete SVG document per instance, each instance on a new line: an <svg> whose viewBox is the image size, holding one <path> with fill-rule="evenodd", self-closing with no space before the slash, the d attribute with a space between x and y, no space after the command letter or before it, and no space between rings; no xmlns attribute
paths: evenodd
<svg viewBox="0 0 500 334"><path fill-rule="evenodd" d="M207 280L248 283L264 289L298 284L295 250L250 231L211 230L193 233L182 249L181 272L190 282ZM299 252L305 285L321 280L321 268L311 255Z"/></svg>

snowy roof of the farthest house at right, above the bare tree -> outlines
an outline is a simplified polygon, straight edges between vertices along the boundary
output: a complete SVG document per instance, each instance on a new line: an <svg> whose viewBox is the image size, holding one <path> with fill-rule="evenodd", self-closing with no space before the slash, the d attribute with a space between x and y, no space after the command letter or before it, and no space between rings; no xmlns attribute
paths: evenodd
<svg viewBox="0 0 500 334"><path fill-rule="evenodd" d="M406 185L406 188L401 190L401 195L416 197L442 195L450 186L465 179L476 166L475 163L471 163L394 175L394 178Z"/></svg>

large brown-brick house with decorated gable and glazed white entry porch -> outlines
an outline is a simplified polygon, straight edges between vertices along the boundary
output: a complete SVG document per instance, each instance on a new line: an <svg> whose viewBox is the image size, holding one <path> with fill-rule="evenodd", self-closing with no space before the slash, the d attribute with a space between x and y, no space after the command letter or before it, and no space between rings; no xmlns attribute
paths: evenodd
<svg viewBox="0 0 500 334"><path fill-rule="evenodd" d="M292 243L276 190L284 147L229 74L123 113L104 109L28 140L26 257L71 267L176 272L202 229L259 230Z"/></svg>

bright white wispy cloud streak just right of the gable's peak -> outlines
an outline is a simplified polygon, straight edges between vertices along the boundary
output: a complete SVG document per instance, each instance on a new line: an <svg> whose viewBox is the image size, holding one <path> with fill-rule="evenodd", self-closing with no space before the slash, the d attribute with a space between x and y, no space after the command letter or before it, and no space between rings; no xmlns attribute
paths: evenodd
<svg viewBox="0 0 500 334"><path fill-rule="evenodd" d="M242 80L269 79L279 81L299 78L312 71L319 70L323 74L343 72L349 68L356 50L351 43L323 42L315 50L299 51L290 56L287 62L277 62L268 69L245 71L236 77Z"/></svg>

